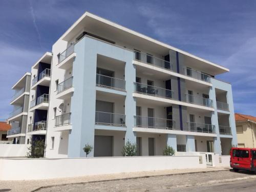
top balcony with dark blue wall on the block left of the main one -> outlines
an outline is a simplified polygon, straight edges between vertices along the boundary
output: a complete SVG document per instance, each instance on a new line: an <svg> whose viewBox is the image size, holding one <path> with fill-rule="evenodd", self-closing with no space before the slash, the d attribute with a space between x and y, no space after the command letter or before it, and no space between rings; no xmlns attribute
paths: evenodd
<svg viewBox="0 0 256 192"><path fill-rule="evenodd" d="M33 80L32 80L32 86L31 89L35 90L36 86L40 85L40 86L50 86L50 81L51 81L51 70L50 69L45 69L44 71L42 71L39 76L36 76Z"/></svg>

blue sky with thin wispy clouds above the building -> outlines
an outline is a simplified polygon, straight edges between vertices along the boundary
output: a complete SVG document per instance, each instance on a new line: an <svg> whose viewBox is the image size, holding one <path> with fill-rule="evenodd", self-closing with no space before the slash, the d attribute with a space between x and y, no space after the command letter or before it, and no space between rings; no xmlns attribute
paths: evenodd
<svg viewBox="0 0 256 192"><path fill-rule="evenodd" d="M11 87L85 11L230 69L234 110L256 116L256 1L0 1L0 119Z"/></svg>

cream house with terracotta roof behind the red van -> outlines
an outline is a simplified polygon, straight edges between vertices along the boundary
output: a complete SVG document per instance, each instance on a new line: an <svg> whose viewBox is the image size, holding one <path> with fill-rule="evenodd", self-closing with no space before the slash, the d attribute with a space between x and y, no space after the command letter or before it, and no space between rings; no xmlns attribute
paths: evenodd
<svg viewBox="0 0 256 192"><path fill-rule="evenodd" d="M256 117L236 113L238 147L256 148Z"/></svg>

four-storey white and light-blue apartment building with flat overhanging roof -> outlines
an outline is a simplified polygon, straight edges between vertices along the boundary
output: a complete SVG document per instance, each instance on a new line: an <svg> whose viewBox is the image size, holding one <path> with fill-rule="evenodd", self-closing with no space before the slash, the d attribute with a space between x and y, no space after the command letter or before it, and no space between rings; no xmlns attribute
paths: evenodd
<svg viewBox="0 0 256 192"><path fill-rule="evenodd" d="M45 71L43 73L43 71ZM229 153L237 144L229 69L84 13L32 67L26 140L47 158ZM43 74L43 75L41 75Z"/></svg>

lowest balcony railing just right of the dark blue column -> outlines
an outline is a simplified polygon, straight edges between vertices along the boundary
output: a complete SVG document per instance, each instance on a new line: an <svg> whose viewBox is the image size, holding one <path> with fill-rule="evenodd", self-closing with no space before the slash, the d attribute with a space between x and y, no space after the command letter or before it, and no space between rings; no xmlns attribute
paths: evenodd
<svg viewBox="0 0 256 192"><path fill-rule="evenodd" d="M216 133L215 125L196 122L183 122L183 131Z"/></svg>

